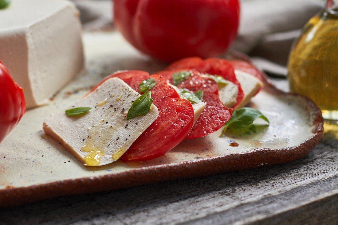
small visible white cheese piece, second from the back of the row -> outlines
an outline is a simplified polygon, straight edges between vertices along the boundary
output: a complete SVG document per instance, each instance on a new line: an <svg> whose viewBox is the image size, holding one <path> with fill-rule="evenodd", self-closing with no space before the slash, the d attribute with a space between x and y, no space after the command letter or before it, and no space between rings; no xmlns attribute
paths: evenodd
<svg viewBox="0 0 338 225"><path fill-rule="evenodd" d="M227 85L218 87L218 96L224 106L230 108L236 103L238 87L233 82L227 82Z"/></svg>

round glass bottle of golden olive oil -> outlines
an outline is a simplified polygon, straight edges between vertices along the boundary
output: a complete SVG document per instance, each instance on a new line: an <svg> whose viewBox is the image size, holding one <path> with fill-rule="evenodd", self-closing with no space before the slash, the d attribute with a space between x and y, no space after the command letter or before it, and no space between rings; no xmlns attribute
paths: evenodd
<svg viewBox="0 0 338 225"><path fill-rule="evenodd" d="M323 10L305 25L289 56L288 79L292 92L338 120L338 14Z"/></svg>

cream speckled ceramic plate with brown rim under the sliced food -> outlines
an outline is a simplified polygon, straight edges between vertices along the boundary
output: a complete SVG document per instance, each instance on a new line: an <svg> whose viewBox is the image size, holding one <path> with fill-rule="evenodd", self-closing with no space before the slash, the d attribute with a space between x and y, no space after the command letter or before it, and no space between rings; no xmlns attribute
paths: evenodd
<svg viewBox="0 0 338 225"><path fill-rule="evenodd" d="M270 120L256 132L218 138L220 131L180 143L165 156L144 163L85 167L42 131L46 116L67 108L116 70L149 72L166 65L133 49L120 34L84 33L87 70L46 106L30 109L0 144L0 206L57 196L98 192L171 179L205 176L281 164L306 155L321 139L323 119L309 99L284 93L265 80L250 106ZM248 60L239 53L229 57ZM229 143L237 142L238 147Z"/></svg>

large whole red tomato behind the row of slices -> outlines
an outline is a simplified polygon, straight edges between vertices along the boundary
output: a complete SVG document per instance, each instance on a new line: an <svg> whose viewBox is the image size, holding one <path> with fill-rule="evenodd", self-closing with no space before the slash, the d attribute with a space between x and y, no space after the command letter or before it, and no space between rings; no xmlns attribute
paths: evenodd
<svg viewBox="0 0 338 225"><path fill-rule="evenodd" d="M114 22L137 49L164 61L222 54L236 38L238 0L116 0Z"/></svg>

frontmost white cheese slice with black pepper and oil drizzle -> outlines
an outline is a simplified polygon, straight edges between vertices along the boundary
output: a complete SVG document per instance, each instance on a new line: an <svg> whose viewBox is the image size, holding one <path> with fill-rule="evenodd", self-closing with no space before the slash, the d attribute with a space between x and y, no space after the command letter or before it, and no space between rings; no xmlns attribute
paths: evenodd
<svg viewBox="0 0 338 225"><path fill-rule="evenodd" d="M110 78L69 107L91 107L88 113L78 117L68 117L64 111L50 115L43 129L84 165L112 163L159 115L152 104L147 114L127 121L127 111L139 96L121 79Z"/></svg>

